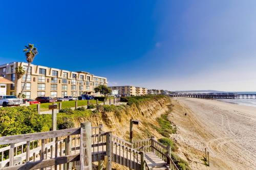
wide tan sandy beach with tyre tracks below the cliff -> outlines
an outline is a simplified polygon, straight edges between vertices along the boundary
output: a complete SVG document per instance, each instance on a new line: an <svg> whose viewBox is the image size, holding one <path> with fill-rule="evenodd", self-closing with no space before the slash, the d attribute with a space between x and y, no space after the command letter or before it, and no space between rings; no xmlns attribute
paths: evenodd
<svg viewBox="0 0 256 170"><path fill-rule="evenodd" d="M178 127L172 137L192 169L256 169L256 107L195 98L172 103L169 118ZM209 167L202 160L204 148Z"/></svg>

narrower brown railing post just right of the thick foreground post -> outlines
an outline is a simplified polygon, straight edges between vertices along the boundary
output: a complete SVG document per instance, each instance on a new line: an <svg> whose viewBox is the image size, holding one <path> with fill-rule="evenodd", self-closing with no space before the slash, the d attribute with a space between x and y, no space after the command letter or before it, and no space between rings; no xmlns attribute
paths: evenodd
<svg viewBox="0 0 256 170"><path fill-rule="evenodd" d="M112 134L106 132L106 170L112 169L112 147Z"/></svg>

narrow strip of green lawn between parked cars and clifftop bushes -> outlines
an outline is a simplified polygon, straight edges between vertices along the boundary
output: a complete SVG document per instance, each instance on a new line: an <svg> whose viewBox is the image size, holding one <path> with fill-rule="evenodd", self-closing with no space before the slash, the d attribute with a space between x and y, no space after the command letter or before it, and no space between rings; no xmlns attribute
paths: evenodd
<svg viewBox="0 0 256 170"><path fill-rule="evenodd" d="M55 102L56 104L60 102ZM99 103L102 103L99 101ZM46 111L49 110L49 105L52 105L53 103L42 103L40 105L40 111ZM90 104L96 104L96 100L90 100ZM84 101L77 101L77 106L86 106L87 105L87 100ZM36 109L36 105L30 105L32 109ZM69 107L75 107L75 101L65 101L62 102L62 108L69 108Z"/></svg>

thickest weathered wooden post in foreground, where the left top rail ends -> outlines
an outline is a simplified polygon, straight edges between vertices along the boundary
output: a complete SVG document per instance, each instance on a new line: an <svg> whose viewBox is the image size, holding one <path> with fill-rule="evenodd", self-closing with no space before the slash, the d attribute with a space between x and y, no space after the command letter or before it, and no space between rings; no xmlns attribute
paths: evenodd
<svg viewBox="0 0 256 170"><path fill-rule="evenodd" d="M80 170L92 170L92 125L81 123L80 133Z"/></svg>

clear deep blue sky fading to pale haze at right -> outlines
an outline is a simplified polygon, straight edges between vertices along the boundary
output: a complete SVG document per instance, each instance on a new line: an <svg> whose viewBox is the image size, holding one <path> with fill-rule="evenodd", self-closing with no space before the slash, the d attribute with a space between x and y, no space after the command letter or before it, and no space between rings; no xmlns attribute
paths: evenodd
<svg viewBox="0 0 256 170"><path fill-rule="evenodd" d="M109 85L256 91L256 1L1 1L0 64L83 70Z"/></svg>

